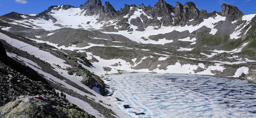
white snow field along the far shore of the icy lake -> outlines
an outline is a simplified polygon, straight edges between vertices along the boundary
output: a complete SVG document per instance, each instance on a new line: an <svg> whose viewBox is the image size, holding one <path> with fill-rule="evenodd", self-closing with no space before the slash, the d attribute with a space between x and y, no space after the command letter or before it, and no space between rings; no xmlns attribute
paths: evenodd
<svg viewBox="0 0 256 118"><path fill-rule="evenodd" d="M87 53L87 56L89 56L90 58L93 56L94 58L96 58L97 60L99 60L99 62L93 62L92 63L92 67L87 67L85 65L82 66L86 69L88 69L91 72L94 72L96 75L105 75L105 74L113 74L113 73L118 73L118 70L125 70L128 72L156 72L156 73L176 73L176 74L197 74L197 75L214 75L214 73L211 72L211 70L218 70L218 71L223 71L225 68L221 66L221 63L215 63L215 65L209 66L209 67L205 67L204 64L200 63L199 65L190 65L190 64L184 64L181 65L179 62L175 63L175 65L169 65L167 66L167 70L159 70L154 69L154 70L148 70L148 69L140 69L140 70L135 70L132 69L132 67L137 66L138 64L140 64L142 62L142 60L146 59L146 58L154 58L153 56L149 56L149 57L143 57L140 59L139 63L135 63L135 61L137 60L137 58L132 59L133 63L135 63L134 65L131 65L131 63L126 62L122 59L112 59L112 60L105 60L105 59L101 59L99 56L95 56L92 55L92 53ZM162 54L161 54L162 55ZM166 60L168 57L160 57L158 59L158 61L164 61ZM112 66L114 64L121 64L118 66ZM112 70L111 71L104 71L102 67L109 67ZM158 66L159 67L159 66ZM206 69L202 72L198 72L195 73L194 70L196 70L198 67L201 67L203 69Z"/></svg>

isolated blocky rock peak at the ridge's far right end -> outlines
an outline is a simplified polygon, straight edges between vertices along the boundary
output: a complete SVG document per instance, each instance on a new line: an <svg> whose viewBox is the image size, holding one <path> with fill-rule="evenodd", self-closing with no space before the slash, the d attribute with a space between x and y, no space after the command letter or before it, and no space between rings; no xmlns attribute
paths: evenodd
<svg viewBox="0 0 256 118"><path fill-rule="evenodd" d="M236 6L231 6L228 4L222 4L221 6L221 15L226 16L228 20L235 21L237 18L240 18L244 15L242 11L237 9Z"/></svg>

